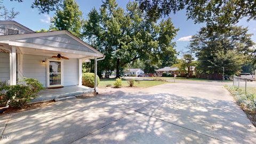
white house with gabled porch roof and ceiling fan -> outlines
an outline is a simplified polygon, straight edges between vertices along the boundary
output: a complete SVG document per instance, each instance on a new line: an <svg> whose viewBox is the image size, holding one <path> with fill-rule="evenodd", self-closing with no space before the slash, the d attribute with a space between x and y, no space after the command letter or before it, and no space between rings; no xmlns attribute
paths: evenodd
<svg viewBox="0 0 256 144"><path fill-rule="evenodd" d="M15 21L0 21L0 82L15 85L28 77L45 87L82 85L82 62L103 56L67 30L35 33Z"/></svg>

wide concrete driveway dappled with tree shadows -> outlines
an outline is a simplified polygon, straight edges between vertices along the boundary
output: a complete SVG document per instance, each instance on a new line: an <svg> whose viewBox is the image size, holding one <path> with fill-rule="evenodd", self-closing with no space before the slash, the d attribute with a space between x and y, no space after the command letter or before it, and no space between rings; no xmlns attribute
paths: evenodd
<svg viewBox="0 0 256 144"><path fill-rule="evenodd" d="M222 86L170 83L100 93L1 116L10 139L0 143L256 141L255 127Z"/></svg>

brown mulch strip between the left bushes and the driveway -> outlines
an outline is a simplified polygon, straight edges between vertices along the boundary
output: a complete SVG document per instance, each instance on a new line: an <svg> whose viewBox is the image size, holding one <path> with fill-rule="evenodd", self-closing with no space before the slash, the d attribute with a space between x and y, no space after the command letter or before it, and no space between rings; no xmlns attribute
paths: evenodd
<svg viewBox="0 0 256 144"><path fill-rule="evenodd" d="M43 108L52 105L55 103L53 100L51 101L45 101L45 102L37 102L37 103L31 103L29 105L26 105L25 108L7 108L2 114L0 115L5 115L5 114L11 114L11 113L18 113L21 111L26 111L30 109L36 109L36 108Z"/></svg>

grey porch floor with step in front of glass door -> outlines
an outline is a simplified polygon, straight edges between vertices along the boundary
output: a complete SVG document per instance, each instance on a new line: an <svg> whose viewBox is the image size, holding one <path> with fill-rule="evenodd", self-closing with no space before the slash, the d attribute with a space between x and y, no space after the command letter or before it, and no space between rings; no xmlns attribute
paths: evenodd
<svg viewBox="0 0 256 144"><path fill-rule="evenodd" d="M54 100L55 98L69 97L85 93L93 93L94 89L83 85L65 86L59 89L45 89L38 93L38 97L31 102Z"/></svg>

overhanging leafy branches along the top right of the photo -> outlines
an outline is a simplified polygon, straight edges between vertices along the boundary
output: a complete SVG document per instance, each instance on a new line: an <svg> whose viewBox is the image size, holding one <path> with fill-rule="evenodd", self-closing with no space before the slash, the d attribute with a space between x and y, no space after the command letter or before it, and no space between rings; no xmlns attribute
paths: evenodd
<svg viewBox="0 0 256 144"><path fill-rule="evenodd" d="M158 19L161 16L176 13L186 9L188 19L195 23L206 22L207 26L231 26L242 18L256 19L256 1L252 0L225 0L225 1L198 1L198 0L137 0L140 8L147 14ZM223 27L219 27L223 28Z"/></svg>

